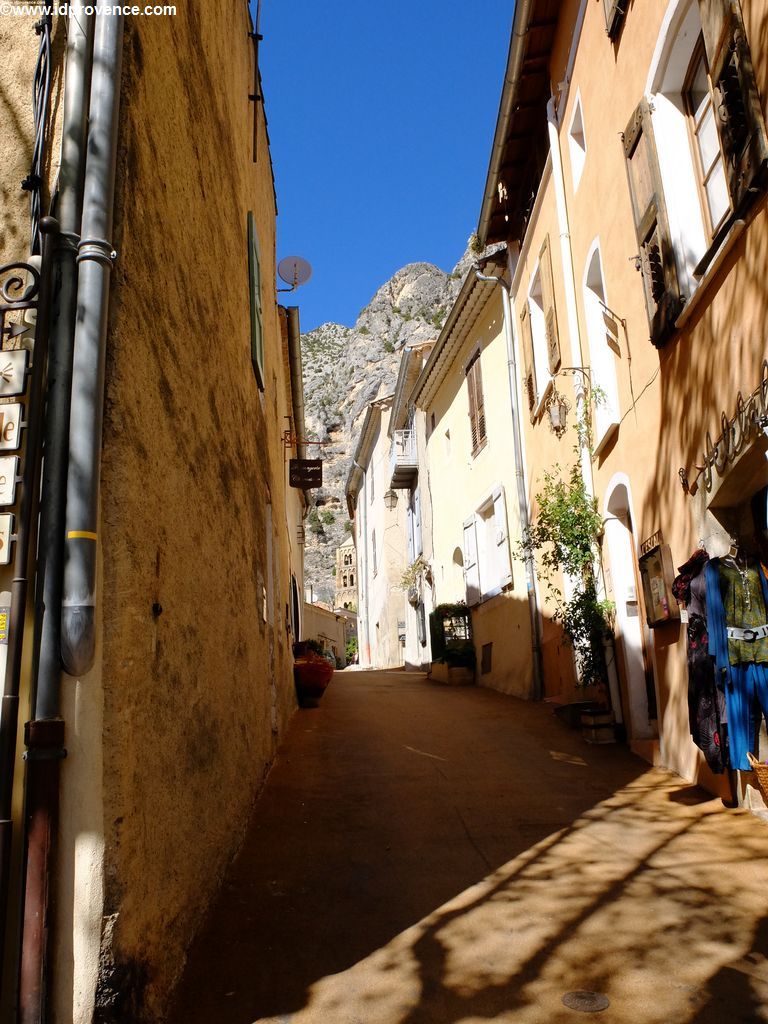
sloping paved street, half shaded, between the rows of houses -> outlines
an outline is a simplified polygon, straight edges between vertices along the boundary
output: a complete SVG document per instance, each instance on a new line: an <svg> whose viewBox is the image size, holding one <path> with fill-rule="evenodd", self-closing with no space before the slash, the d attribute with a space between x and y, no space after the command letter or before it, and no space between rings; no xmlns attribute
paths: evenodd
<svg viewBox="0 0 768 1024"><path fill-rule="evenodd" d="M337 673L294 719L170 1024L754 1024L767 913L749 813L546 705Z"/></svg>

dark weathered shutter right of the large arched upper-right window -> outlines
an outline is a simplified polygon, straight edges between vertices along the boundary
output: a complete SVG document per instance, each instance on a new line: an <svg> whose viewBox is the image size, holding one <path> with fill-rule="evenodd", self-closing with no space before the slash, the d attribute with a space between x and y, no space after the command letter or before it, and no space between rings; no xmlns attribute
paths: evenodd
<svg viewBox="0 0 768 1024"><path fill-rule="evenodd" d="M755 196L768 163L765 122L746 34L733 0L699 0L725 174L734 210Z"/></svg>

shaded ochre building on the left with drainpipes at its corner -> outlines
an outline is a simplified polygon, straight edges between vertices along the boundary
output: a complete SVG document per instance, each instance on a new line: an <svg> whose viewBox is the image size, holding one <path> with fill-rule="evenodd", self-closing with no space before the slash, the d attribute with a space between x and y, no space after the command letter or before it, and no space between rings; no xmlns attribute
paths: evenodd
<svg viewBox="0 0 768 1024"><path fill-rule="evenodd" d="M287 485L282 435L287 418L304 435L298 319L275 301L274 182L246 0L125 22L110 8L71 6L69 24L53 15L38 33L34 17L0 17L0 265L39 252L41 228L54 228L40 215L58 217L62 233L48 236L53 386L66 384L75 353L72 430L65 419L62 452L47 449L44 467L46 610L31 586L24 634L24 594L11 585L20 541L10 548L16 565L0 565L0 656L6 695L19 695L19 745L3 750L0 782L9 880L0 1015L8 1019L14 1000L26 890L26 1012L42 993L58 1021L151 1022L163 1019L296 708L305 498ZM36 125L41 44L50 95L39 95ZM11 327L3 348L40 342L42 367L50 301L41 293L34 339L30 317L8 308L20 294L9 276L0 281ZM20 398L28 413L34 387ZM0 397L10 422L14 393ZM34 470L32 437L24 431L12 456L23 473ZM55 466L58 483L48 478ZM50 497L62 475L66 517ZM2 495L3 555L7 516L20 536L28 489ZM31 550L34 584L42 562ZM42 635L35 679L33 634ZM9 708L13 699L3 702L4 739L16 726ZM32 757L23 762L28 720ZM58 811L41 797L41 774L49 781L52 770ZM57 831L25 835L25 788L36 823L58 813ZM56 912L41 932L48 890Z"/></svg>

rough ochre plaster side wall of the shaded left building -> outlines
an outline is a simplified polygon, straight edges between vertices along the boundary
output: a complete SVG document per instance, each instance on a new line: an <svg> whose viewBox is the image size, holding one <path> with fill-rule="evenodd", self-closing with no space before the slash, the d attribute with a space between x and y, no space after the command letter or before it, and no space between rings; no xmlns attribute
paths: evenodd
<svg viewBox="0 0 768 1024"><path fill-rule="evenodd" d="M61 891L74 890L60 948L74 927L82 989L94 980L95 947L102 1021L162 1019L295 708L287 606L292 567L302 585L300 502L288 495L281 442L291 403L261 109L252 161L249 29L240 0L126 26L101 636L91 677L66 682L77 694L66 709L75 756L63 822L75 852L65 852L59 878ZM249 210L261 255L263 394L250 356ZM80 819L75 793L90 809ZM79 901L101 856L94 914ZM68 998L62 987L60 1020L90 1019L87 991L80 1017Z"/></svg>

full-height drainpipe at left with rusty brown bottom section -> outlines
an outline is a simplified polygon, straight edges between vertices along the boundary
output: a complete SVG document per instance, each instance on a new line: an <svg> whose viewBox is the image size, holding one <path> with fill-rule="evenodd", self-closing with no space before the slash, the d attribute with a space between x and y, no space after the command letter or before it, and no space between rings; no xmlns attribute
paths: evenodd
<svg viewBox="0 0 768 1024"><path fill-rule="evenodd" d="M50 865L58 822L59 765L65 756L59 717L61 664L59 616L63 562L67 457L72 353L77 307L75 253L82 213L83 170L90 90L93 16L78 5L68 24L67 69L57 212L61 231L55 252L56 294L48 356L45 460L40 497L33 721L26 728L25 900L20 967L23 1022L47 1019Z"/></svg>

